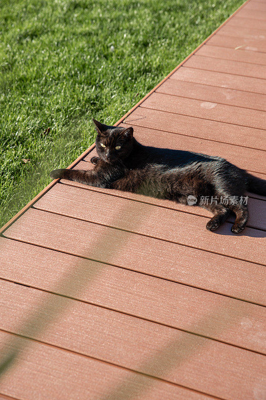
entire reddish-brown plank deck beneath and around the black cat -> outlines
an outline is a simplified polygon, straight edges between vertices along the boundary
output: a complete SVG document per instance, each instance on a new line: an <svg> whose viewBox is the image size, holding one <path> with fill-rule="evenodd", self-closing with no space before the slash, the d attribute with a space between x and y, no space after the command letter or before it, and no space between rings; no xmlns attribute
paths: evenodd
<svg viewBox="0 0 266 400"><path fill-rule="evenodd" d="M248 1L117 124L266 178L265 39ZM0 400L265 400L266 197L249 195L235 235L199 207L53 181L1 230Z"/></svg>

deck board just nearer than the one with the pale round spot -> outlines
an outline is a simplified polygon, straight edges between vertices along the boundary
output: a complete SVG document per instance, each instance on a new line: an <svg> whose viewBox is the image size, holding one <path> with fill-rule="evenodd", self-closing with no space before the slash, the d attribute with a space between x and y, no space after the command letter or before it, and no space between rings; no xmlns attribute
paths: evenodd
<svg viewBox="0 0 266 400"><path fill-rule="evenodd" d="M125 119L125 122L133 126L156 127L156 129L167 132L202 137L203 139L211 139L239 146L245 145L246 147L261 150L266 149L264 129L233 125L232 123L144 107L138 107Z"/></svg>

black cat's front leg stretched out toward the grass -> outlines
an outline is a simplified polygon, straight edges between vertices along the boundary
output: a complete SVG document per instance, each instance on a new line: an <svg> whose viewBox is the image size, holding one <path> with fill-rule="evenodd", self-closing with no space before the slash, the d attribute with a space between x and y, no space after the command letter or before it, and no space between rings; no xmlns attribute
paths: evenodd
<svg viewBox="0 0 266 400"><path fill-rule="evenodd" d="M53 179L68 179L91 186L108 187L107 183L102 181L94 170L54 169L50 172L50 176Z"/></svg>

